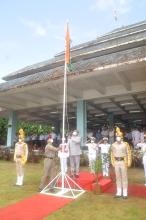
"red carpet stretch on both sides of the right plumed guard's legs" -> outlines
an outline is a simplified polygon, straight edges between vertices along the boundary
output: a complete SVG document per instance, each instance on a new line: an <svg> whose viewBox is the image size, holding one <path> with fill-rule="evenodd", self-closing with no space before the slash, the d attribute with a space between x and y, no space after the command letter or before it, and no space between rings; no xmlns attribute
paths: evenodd
<svg viewBox="0 0 146 220"><path fill-rule="evenodd" d="M116 185L113 184L110 188L108 188L106 193L113 193L116 192ZM146 198L146 187L140 184L130 184L128 186L128 195L129 196L136 196Z"/></svg>

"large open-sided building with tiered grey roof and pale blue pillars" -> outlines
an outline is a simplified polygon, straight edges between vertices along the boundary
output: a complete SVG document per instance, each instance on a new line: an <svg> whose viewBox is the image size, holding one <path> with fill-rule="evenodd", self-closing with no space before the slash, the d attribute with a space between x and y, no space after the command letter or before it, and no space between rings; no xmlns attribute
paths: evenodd
<svg viewBox="0 0 146 220"><path fill-rule="evenodd" d="M146 21L116 29L71 48L68 120L86 137L88 128L114 123L146 125ZM9 117L7 146L16 118L62 122L64 52L18 70L0 84L1 116Z"/></svg>

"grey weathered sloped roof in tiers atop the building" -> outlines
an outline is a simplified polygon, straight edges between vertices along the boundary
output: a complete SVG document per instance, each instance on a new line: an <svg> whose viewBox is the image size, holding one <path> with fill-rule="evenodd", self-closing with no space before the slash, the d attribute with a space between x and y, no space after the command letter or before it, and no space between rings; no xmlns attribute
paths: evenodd
<svg viewBox="0 0 146 220"><path fill-rule="evenodd" d="M73 72L93 69L107 63L118 63L117 55L121 62L122 51L144 46L146 46L146 21L116 29L93 41L72 47ZM140 57L140 51L134 55ZM126 57L127 60L129 58L131 56ZM7 82L0 84L0 91L62 77L63 72L64 51L48 61L25 67L4 77Z"/></svg>

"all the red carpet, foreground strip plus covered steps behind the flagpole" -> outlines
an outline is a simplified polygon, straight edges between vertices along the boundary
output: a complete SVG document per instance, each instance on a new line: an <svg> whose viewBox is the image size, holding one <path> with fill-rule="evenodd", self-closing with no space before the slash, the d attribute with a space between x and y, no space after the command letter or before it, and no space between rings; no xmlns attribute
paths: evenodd
<svg viewBox="0 0 146 220"><path fill-rule="evenodd" d="M81 172L79 178L74 179L83 189L93 190L96 177L89 172ZM98 176L102 192L115 193L115 184L110 178ZM146 198L146 187L138 184L129 185L129 196ZM8 207L0 209L1 220L42 220L51 213L70 203L72 199L37 194Z"/></svg>

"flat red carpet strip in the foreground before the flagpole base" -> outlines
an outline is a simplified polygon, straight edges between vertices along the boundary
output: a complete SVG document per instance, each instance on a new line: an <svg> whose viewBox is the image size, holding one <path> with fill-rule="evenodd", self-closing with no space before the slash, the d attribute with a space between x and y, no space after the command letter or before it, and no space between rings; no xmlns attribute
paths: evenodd
<svg viewBox="0 0 146 220"><path fill-rule="evenodd" d="M1 220L42 220L72 199L37 194L0 209Z"/></svg>

